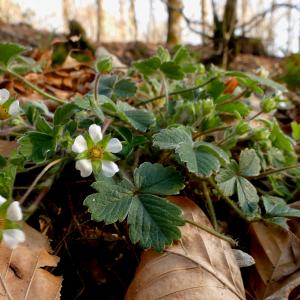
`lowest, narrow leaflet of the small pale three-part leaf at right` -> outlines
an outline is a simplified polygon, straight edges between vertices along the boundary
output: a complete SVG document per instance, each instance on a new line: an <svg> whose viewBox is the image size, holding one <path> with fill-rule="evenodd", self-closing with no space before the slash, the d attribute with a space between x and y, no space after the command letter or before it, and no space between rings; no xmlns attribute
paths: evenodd
<svg viewBox="0 0 300 300"><path fill-rule="evenodd" d="M257 212L259 197L253 184L244 177L237 177L237 194L239 205L246 214Z"/></svg>

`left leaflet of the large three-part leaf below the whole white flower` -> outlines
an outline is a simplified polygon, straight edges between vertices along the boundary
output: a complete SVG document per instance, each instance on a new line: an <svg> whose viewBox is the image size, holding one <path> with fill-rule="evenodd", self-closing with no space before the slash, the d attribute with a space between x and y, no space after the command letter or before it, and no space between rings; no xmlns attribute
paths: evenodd
<svg viewBox="0 0 300 300"><path fill-rule="evenodd" d="M95 182L92 185L98 193L89 195L83 202L92 214L92 220L112 224L123 221L128 214L133 192L128 181L122 184Z"/></svg>

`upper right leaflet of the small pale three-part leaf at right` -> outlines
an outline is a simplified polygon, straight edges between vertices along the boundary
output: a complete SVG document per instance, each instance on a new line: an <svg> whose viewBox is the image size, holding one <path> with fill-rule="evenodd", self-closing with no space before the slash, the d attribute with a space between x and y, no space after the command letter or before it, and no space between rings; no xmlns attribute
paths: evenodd
<svg viewBox="0 0 300 300"><path fill-rule="evenodd" d="M240 154L240 174L242 176L257 176L260 172L260 159L254 149L245 149Z"/></svg>

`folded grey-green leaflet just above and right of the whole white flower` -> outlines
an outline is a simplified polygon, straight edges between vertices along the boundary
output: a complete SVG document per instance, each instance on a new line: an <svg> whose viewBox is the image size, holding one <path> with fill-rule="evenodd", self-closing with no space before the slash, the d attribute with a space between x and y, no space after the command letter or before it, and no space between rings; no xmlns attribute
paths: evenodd
<svg viewBox="0 0 300 300"><path fill-rule="evenodd" d="M147 131L155 123L155 117L151 111L136 109L120 101L117 103L117 108L120 118L128 121L135 129L142 132Z"/></svg>

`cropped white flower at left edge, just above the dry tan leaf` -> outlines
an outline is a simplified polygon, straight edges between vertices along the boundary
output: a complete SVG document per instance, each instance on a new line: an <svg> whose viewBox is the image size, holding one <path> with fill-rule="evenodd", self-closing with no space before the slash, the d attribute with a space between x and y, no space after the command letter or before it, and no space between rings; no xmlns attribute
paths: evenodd
<svg viewBox="0 0 300 300"><path fill-rule="evenodd" d="M15 228L14 222L23 218L22 210L18 201L11 202L8 207L7 200L0 195L0 234L3 243L11 249L15 249L19 243L25 241L25 234L21 229ZM4 209L3 209L4 208Z"/></svg>

